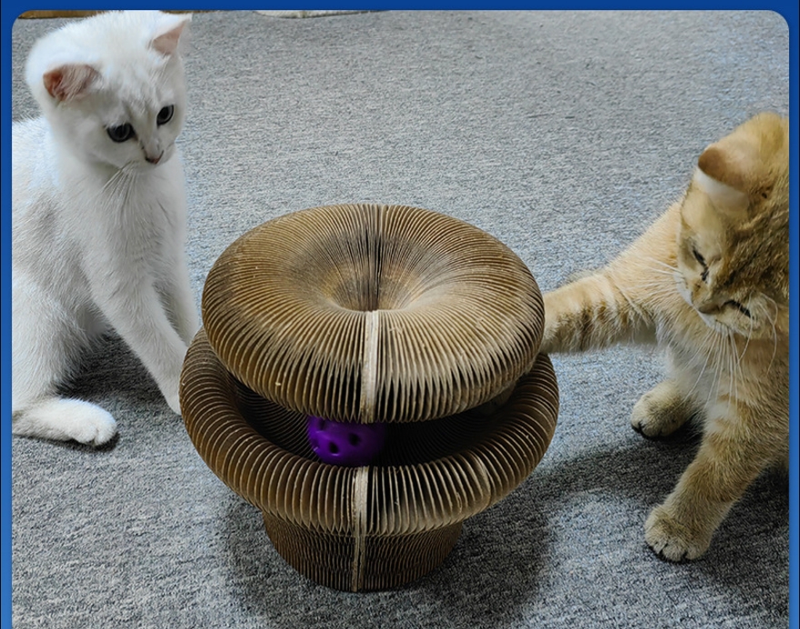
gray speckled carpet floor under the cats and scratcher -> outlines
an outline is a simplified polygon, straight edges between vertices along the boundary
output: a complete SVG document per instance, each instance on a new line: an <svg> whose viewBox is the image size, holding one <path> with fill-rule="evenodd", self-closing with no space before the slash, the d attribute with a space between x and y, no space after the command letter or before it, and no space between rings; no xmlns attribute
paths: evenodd
<svg viewBox="0 0 800 629"><path fill-rule="evenodd" d="M35 37L14 28L15 119ZM749 115L788 112L774 13L195 15L181 137L197 294L226 245L315 205L418 205L515 250L543 290L602 265ZM643 523L696 447L628 425L655 350L554 356L562 408L534 473L405 588L295 573L195 454L125 346L72 387L115 414L100 450L13 441L13 618L29 627L785 627L788 484L765 474L710 551L667 564Z"/></svg>

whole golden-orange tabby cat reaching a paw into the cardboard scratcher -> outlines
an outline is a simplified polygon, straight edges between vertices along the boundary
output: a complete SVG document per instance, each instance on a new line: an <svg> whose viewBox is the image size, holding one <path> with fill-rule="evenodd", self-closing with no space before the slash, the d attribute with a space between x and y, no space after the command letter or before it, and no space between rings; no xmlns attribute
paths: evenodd
<svg viewBox="0 0 800 629"><path fill-rule="evenodd" d="M789 122L760 114L708 146L683 198L604 269L545 295L542 352L655 341L670 375L631 424L697 415L695 460L645 522L665 559L703 554L766 466L788 464Z"/></svg>

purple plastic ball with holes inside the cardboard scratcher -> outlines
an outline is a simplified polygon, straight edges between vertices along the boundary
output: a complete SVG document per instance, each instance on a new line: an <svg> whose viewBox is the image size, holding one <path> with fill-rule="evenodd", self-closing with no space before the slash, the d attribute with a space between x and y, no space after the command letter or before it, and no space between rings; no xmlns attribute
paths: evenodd
<svg viewBox="0 0 800 629"><path fill-rule="evenodd" d="M308 416L308 442L323 462L360 467L380 454L386 440L386 424L334 422Z"/></svg>

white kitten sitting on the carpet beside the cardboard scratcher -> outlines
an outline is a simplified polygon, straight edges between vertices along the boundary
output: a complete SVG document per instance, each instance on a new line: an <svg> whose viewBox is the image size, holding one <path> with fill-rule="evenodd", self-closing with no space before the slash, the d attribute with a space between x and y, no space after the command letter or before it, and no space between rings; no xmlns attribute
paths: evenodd
<svg viewBox="0 0 800 629"><path fill-rule="evenodd" d="M190 15L95 15L45 35L25 78L43 117L12 129L12 430L104 444L111 414L57 396L109 328L180 413L199 327L185 262L178 51Z"/></svg>

